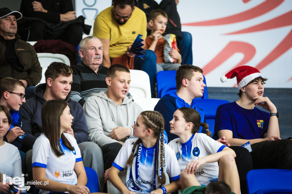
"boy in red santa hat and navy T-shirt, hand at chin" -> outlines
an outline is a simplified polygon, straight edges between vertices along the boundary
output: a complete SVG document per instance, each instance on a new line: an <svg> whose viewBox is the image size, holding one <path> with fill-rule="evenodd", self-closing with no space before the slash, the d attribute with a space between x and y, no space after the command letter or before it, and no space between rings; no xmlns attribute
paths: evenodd
<svg viewBox="0 0 292 194"><path fill-rule="evenodd" d="M281 140L276 106L264 97L267 78L251 66L240 66L220 80L237 78L239 100L220 105L215 116L214 133L225 136L230 145L251 145L254 169L292 170L292 141ZM256 108L261 106L268 112Z"/></svg>

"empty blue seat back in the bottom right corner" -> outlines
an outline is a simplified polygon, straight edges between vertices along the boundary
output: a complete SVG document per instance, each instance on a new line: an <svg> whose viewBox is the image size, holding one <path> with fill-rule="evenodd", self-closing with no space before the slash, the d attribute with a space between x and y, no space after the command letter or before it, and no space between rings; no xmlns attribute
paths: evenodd
<svg viewBox="0 0 292 194"><path fill-rule="evenodd" d="M292 170L257 169L246 175L249 194L291 193Z"/></svg>

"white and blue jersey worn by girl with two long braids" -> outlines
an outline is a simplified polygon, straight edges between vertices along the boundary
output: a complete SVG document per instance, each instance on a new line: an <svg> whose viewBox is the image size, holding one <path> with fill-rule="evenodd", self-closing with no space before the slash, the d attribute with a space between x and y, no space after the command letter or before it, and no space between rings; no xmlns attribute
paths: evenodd
<svg viewBox="0 0 292 194"><path fill-rule="evenodd" d="M113 166L119 169L120 171L123 171L126 167L128 167L128 171L131 170L131 166L127 166L126 162L130 155L132 155L132 149L135 142L138 140L138 138L130 138L126 140L124 145L119 151L119 154L117 155L116 159L114 160ZM139 145L137 145L138 147ZM154 160L155 158L155 147L146 148L142 146L140 159L139 159L139 171L138 171L138 187L142 190L146 191L147 193L150 193L154 190L154 173L156 174L156 166L154 166ZM178 180L180 178L180 170L178 162L175 158L175 154L173 150L168 146L164 144L164 156L165 156L165 163L163 164L164 173L167 172L169 175L171 181ZM160 158L159 158L159 166L160 166ZM132 170L135 170L135 167L132 165ZM133 183L131 183L131 179L126 180L126 186L133 187ZM136 190L136 193L139 193L139 188L134 188ZM159 187L157 186L156 189ZM130 190L130 189L129 189ZM131 191L131 190L130 190Z"/></svg>

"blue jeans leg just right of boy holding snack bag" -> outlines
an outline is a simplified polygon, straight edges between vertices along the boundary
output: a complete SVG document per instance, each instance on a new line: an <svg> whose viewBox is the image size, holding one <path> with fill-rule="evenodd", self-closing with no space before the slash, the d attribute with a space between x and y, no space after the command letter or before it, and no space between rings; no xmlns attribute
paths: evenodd
<svg viewBox="0 0 292 194"><path fill-rule="evenodd" d="M180 54L182 56L182 65L193 64L193 51L192 51L192 35L188 32L182 32L183 38L177 41Z"/></svg>

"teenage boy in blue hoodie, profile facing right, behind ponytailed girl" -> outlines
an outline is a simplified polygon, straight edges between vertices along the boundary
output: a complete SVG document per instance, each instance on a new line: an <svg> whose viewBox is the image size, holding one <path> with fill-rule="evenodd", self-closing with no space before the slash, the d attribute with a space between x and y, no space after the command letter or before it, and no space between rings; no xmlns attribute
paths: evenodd
<svg viewBox="0 0 292 194"><path fill-rule="evenodd" d="M203 96L204 87L206 86L203 82L203 70L197 66L192 65L181 65L176 71L176 89L177 92L171 92L163 96L155 106L154 110L160 112L165 121L165 130L168 135L168 142L178 138L177 135L170 133L170 123L173 119L173 113L181 107L190 107L196 109L201 115L201 122L206 123L204 111L199 108L200 105L195 104L194 98ZM201 133L202 127L199 132ZM218 140L221 143L230 145L225 140L225 137ZM252 170L251 156L247 149L238 146L230 147L235 151L236 164L239 174L241 193L247 193L246 189L246 174L249 170Z"/></svg>

